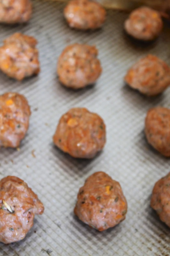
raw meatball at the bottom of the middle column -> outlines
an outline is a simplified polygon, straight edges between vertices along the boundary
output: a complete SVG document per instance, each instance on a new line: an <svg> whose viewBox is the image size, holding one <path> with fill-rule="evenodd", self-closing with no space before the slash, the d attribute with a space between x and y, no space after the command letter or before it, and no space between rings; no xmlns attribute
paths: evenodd
<svg viewBox="0 0 170 256"><path fill-rule="evenodd" d="M79 189L74 213L99 231L119 224L127 213L126 198L119 182L104 172L92 174Z"/></svg>

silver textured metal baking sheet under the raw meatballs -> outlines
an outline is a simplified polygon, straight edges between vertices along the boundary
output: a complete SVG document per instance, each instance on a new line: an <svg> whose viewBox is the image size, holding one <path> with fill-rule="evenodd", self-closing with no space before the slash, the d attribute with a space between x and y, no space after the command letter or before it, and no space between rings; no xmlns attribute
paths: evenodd
<svg viewBox="0 0 170 256"><path fill-rule="evenodd" d="M107 11L102 29L81 32L70 29L63 18L63 3L34 1L28 25L0 25L0 41L20 31L38 40L41 73L22 82L0 74L0 92L24 94L32 109L30 128L20 151L0 149L0 178L24 179L45 205L43 215L18 243L0 243L0 255L170 255L170 230L149 207L154 183L170 171L170 160L146 142L144 118L150 107L170 108L170 88L147 98L123 82L128 67L148 53L170 64L170 28L154 43L139 44L127 37L127 14ZM103 66L95 86L72 91L61 86L56 61L69 43L96 44ZM60 116L72 107L87 107L106 123L107 143L93 160L77 160L52 143ZM34 154L33 154L34 153ZM35 157L34 157L35 155ZM126 220L104 232L78 221L73 209L78 189L95 171L105 171L120 182L128 201Z"/></svg>

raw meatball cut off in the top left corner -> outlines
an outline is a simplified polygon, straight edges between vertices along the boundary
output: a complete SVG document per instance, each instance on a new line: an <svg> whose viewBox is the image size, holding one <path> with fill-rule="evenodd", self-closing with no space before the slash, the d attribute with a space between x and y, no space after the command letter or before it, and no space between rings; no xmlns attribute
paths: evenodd
<svg viewBox="0 0 170 256"><path fill-rule="evenodd" d="M24 23L32 14L32 3L30 0L1 0L0 1L0 23Z"/></svg>

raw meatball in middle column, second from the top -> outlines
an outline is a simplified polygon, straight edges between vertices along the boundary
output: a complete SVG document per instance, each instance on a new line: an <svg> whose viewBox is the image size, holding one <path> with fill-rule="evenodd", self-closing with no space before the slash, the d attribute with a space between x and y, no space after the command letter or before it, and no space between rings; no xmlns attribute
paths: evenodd
<svg viewBox="0 0 170 256"><path fill-rule="evenodd" d="M73 89L93 84L102 72L97 55L95 46L78 43L67 46L57 65L60 82Z"/></svg>

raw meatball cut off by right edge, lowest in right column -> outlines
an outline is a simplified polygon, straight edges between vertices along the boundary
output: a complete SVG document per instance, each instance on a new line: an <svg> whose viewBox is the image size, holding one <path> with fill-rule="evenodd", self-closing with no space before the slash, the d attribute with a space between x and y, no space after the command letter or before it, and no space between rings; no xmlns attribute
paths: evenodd
<svg viewBox="0 0 170 256"><path fill-rule="evenodd" d="M170 172L155 183L150 205L170 227Z"/></svg>

